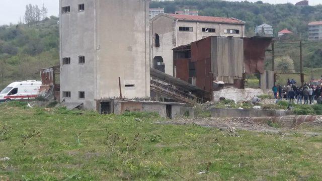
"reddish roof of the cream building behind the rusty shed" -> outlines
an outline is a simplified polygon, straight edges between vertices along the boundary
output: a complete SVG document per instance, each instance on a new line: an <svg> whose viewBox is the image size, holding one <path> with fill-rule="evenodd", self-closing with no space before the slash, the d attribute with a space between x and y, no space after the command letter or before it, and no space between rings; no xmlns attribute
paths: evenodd
<svg viewBox="0 0 322 181"><path fill-rule="evenodd" d="M193 15L176 15L176 14L167 14L167 15L172 16L177 20L183 20L183 21L230 23L230 24L241 24L241 25L245 24L244 21L237 20L235 18L193 16Z"/></svg>

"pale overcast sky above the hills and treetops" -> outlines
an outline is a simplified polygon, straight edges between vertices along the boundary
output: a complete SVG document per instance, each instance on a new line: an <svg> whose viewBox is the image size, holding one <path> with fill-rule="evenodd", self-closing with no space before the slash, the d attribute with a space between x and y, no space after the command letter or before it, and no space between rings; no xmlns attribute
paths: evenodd
<svg viewBox="0 0 322 181"><path fill-rule="evenodd" d="M227 1L239 1L239 0L227 0ZM248 0L249 2L257 2L258 0ZM261 0L264 3L280 4L280 3L292 3L295 4L301 0ZM51 15L58 16L58 0L0 0L0 25L4 24L17 24L19 19L24 20L24 14L27 4L38 5L48 9L48 17ZM310 5L322 4L322 0L309 0Z"/></svg>

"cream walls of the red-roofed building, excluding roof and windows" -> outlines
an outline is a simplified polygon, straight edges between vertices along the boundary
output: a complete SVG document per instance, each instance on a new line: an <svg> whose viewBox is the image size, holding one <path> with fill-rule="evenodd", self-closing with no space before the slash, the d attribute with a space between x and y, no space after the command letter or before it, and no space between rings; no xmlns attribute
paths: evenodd
<svg viewBox="0 0 322 181"><path fill-rule="evenodd" d="M233 36L244 37L245 26L233 24L219 24L207 22L177 21L165 15L159 15L150 22L151 24L151 66L155 56L162 56L167 74L174 75L172 49L181 45L201 40L208 36ZM179 27L192 27L193 31L179 31ZM215 28L215 33L202 32L202 28ZM237 29L239 34L226 34L224 29ZM155 33L159 35L160 47L155 47ZM175 40L174 40L175 39Z"/></svg>

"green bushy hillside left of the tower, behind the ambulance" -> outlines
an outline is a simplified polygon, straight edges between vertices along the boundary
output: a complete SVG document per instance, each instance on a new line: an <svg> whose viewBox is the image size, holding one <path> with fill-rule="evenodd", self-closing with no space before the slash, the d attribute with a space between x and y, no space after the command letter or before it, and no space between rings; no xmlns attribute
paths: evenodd
<svg viewBox="0 0 322 181"><path fill-rule="evenodd" d="M14 80L40 79L39 69L59 63L58 20L0 27L0 88Z"/></svg>

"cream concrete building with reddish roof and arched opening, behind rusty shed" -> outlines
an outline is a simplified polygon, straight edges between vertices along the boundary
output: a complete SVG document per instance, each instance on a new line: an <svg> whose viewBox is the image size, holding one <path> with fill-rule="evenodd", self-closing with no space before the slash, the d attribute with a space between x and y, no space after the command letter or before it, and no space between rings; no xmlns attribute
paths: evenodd
<svg viewBox="0 0 322 181"><path fill-rule="evenodd" d="M159 14L150 27L151 66L170 75L175 75L173 48L208 36L245 36L245 22L234 18Z"/></svg>

